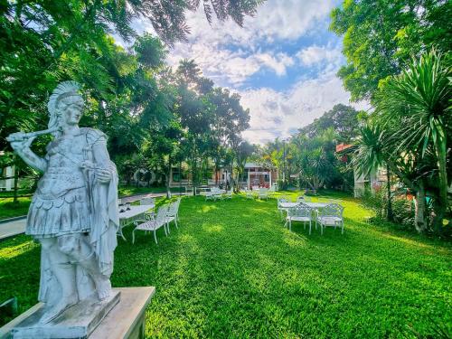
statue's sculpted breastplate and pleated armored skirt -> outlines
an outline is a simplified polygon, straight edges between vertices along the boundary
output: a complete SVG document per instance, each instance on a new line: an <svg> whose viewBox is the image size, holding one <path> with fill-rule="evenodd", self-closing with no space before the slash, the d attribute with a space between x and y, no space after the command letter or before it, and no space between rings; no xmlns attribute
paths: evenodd
<svg viewBox="0 0 452 339"><path fill-rule="evenodd" d="M87 137L89 129L47 146L48 167L30 205L26 234L47 238L90 230L89 177L80 167L93 145L92 137Z"/></svg>

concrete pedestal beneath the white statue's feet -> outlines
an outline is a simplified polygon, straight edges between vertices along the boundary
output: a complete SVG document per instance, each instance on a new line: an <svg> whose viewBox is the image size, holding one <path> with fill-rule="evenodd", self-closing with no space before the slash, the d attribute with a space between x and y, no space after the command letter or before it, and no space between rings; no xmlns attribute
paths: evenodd
<svg viewBox="0 0 452 339"><path fill-rule="evenodd" d="M49 325L34 325L33 330L35 319L39 319L43 312L43 304L39 303L0 328L0 338L144 338L146 306L155 294L155 287L125 287L113 290L115 293L112 298L106 301L108 313L102 314L102 311L93 310L81 315L78 309L74 308L76 306L73 306L68 309L71 311L71 317L64 316L59 321L57 318L55 323ZM115 300L118 302L116 306ZM80 317L79 322L74 322L75 315ZM99 316L100 319L103 317L103 320L95 327L93 318L99 319Z"/></svg>

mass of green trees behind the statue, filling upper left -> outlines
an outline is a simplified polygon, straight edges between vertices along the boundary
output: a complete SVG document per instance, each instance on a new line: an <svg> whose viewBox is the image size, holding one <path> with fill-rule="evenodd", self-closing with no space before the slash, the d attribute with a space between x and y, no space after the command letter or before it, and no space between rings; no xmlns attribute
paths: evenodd
<svg viewBox="0 0 452 339"><path fill-rule="evenodd" d="M231 17L242 24L261 1L203 2L208 20ZM5 137L18 129L45 129L45 103L61 80L83 85L86 110L81 126L96 127L108 135L108 151L127 184L137 170L169 178L174 162L191 164L200 180L207 163L237 150L240 132L250 114L240 96L214 88L194 61L182 61L174 73L165 64L167 46L189 32L185 11L199 2L9 2L0 20L0 149L9 149ZM155 32L137 36L132 20L150 20ZM110 33L134 42L126 51ZM174 131L177 133L173 133ZM185 141L184 141L185 140ZM40 137L33 151L44 155L49 137ZM9 155L9 153L8 153ZM228 155L228 156L230 156ZM3 158L3 157L2 157ZM21 175L29 172L21 160L5 156ZM218 163L218 162L217 162Z"/></svg>

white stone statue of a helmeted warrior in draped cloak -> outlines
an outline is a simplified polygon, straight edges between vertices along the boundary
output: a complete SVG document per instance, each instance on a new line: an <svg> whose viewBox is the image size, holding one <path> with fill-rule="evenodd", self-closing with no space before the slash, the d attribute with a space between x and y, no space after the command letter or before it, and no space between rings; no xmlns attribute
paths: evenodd
<svg viewBox="0 0 452 339"><path fill-rule="evenodd" d="M41 158L30 146L42 132L14 133L7 139L24 162L43 172L26 223L26 234L42 245L40 301L47 324L82 300L111 294L110 275L118 231L118 174L106 136L80 128L80 86L64 81L49 99L54 137Z"/></svg>

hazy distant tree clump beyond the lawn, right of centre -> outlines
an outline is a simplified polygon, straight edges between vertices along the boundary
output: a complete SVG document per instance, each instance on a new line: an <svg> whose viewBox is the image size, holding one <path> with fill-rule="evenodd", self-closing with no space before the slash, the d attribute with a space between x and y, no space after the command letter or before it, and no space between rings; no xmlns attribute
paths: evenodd
<svg viewBox="0 0 452 339"><path fill-rule="evenodd" d="M290 183L313 190L324 186L350 189L353 172L337 159L335 146L351 143L358 135L359 115L350 106L335 105L313 123L299 128L288 142L277 138L258 148L255 161L277 167L281 187ZM297 179L290 178L291 174Z"/></svg>

